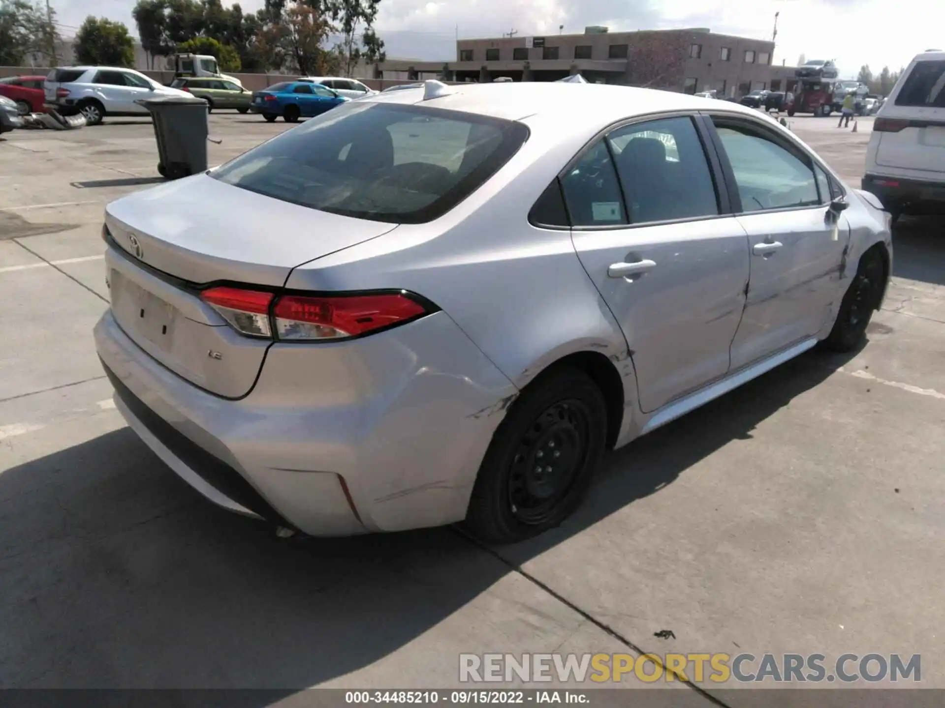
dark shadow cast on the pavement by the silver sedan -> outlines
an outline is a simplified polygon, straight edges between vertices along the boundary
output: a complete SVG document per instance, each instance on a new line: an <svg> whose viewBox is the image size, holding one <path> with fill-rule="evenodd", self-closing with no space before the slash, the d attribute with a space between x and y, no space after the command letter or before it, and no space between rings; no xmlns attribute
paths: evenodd
<svg viewBox="0 0 945 708"><path fill-rule="evenodd" d="M506 548L455 529L280 540L198 497L127 428L13 467L0 475L0 685L287 696L344 677L750 437L851 356L806 354L611 454L574 517Z"/></svg>

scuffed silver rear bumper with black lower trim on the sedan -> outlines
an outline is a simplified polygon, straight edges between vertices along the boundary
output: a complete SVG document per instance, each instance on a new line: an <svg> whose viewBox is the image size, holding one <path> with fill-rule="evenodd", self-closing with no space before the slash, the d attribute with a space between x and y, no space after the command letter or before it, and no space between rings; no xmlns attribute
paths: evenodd
<svg viewBox="0 0 945 708"><path fill-rule="evenodd" d="M95 345L116 405L204 497L318 536L466 515L511 383L443 312L329 346L272 346L229 400L164 368L106 312Z"/></svg>

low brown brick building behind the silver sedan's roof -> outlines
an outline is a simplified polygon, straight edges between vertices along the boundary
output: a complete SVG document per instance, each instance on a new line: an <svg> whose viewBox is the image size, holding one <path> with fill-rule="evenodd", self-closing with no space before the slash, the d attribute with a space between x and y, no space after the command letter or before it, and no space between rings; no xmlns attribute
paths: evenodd
<svg viewBox="0 0 945 708"><path fill-rule="evenodd" d="M597 83L649 86L737 97L752 89L789 88L793 67L772 66L774 42L713 34L708 29L609 32L459 40L447 61L386 61L384 78L455 81L555 81L580 74Z"/></svg>

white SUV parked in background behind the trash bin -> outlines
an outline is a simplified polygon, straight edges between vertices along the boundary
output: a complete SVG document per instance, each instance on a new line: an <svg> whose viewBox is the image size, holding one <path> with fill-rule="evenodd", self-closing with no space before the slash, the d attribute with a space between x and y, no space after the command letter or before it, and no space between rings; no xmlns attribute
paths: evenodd
<svg viewBox="0 0 945 708"><path fill-rule="evenodd" d="M94 126L106 115L148 115L135 101L157 96L184 96L190 93L162 86L133 69L114 66L61 66L43 82L46 104L63 115L81 113Z"/></svg>

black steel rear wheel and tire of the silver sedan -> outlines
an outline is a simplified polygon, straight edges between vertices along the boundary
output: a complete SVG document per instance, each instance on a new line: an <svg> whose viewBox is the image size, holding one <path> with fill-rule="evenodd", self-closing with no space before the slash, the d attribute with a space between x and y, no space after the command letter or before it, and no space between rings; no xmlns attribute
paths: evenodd
<svg viewBox="0 0 945 708"><path fill-rule="evenodd" d="M607 406L593 380L570 366L542 374L492 436L466 526L490 543L521 541L558 526L587 495L605 430Z"/></svg>

